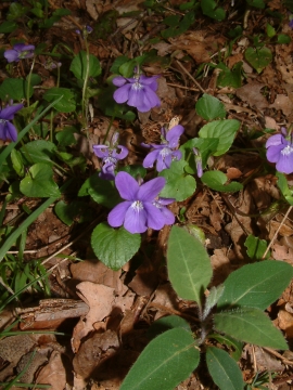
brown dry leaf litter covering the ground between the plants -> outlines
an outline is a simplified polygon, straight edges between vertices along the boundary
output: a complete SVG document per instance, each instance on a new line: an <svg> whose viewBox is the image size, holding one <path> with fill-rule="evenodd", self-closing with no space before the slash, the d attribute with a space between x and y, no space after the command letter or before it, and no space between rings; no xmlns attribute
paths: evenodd
<svg viewBox="0 0 293 390"><path fill-rule="evenodd" d="M49 3L58 8L53 1ZM73 20L62 18L59 25L46 31L47 39L51 42L61 39L64 43L71 44L74 52L78 52L81 49L80 41L76 39L72 30L72 23L76 26L92 24L92 21L102 21L103 15L110 11L118 11L120 14L130 11L140 12L139 3L124 1L113 6L109 1L97 4L92 1L76 0L67 5L72 11ZM284 12L279 1L270 1L269 6L271 10ZM252 13L247 34L257 31L258 18L259 13ZM127 41L132 44L150 32L148 23L137 23L136 17L132 20L118 17L117 24L115 18L113 23L114 30L110 36L113 39L98 38L90 42L90 52L104 61L105 68L106 62L111 62L113 55L125 53L124 48ZM193 31L186 31L178 37L170 37L160 42L142 40L144 44L142 44L142 52L155 49L161 56L171 54L174 58L180 60L190 56L196 66L204 64L202 88L221 99L229 112L229 118L241 120L244 127L250 125L254 131L262 130L264 127L279 129L284 122L292 121L293 40L289 44L271 47L273 61L260 74L254 72L243 55L249 44L247 39L239 41L234 50L228 54L226 63L228 69L231 70L239 62L243 62L247 79L242 87L227 90L225 93L225 86L217 87L213 79L216 76L209 70L214 65L213 57L220 51L227 51L228 41L222 30L229 29L228 27L229 22L214 24L212 20L205 17L200 21L199 27ZM66 30L66 40L64 30ZM282 32L293 38L292 29L285 23L282 26ZM25 34L22 29L17 31L18 37ZM34 43L40 43L37 37ZM190 62L186 63L188 73L192 72L190 64ZM127 164L142 161L141 142L152 143L160 139L161 127L169 122L175 115L182 118L182 125L189 136L194 136L203 126L202 118L196 117L194 113L194 100L200 91L199 86L178 67L176 61L171 65L167 72L160 63L145 67L145 72L150 75L162 74L158 89L158 95L163 102L162 109L154 108L150 114L140 114L139 120L135 123L136 129L130 127L123 132L122 144L127 145L130 151ZM26 76L25 69L20 72L23 73L22 76ZM43 78L48 77L44 87L49 83L50 87L55 84L55 80L44 74L41 68L39 72ZM195 92L195 95L190 91ZM93 106L95 104L93 100ZM91 153L92 144L101 142L109 126L109 119L100 115L92 118L87 140L75 135L77 144L74 150L77 154L85 156L88 169L92 172L100 168L98 159ZM110 135L119 126L118 121L111 123ZM252 145L257 145L257 142L259 139L254 140L252 136ZM240 141L239 148L241 146ZM186 208L184 222L196 223L205 233L206 247L214 270L212 285L219 285L229 273L249 261L244 242L250 234L264 239L272 239L280 227L283 211L267 212L271 203L279 199L279 190L276 180L270 176L257 177L259 164L258 155L253 153L226 155L217 161L217 169L227 173L229 179L249 179L249 184L243 192L228 196L217 193L215 196L200 188L194 197L171 206L177 216L180 209ZM29 199L25 199L25 203L28 202ZM4 223L20 217L20 203L14 203L13 206L15 208L8 211ZM28 206L31 209L35 207L31 203L28 203ZM94 211L98 216L100 209ZM279 235L271 247L271 256L278 261L293 264L291 217L289 216L279 230ZM80 234L80 230L78 221L74 221L73 225L68 226L55 217L52 209L46 210L29 227L26 261L51 257L50 262L46 264L48 270L54 268L54 272L49 276L49 284L51 290L59 294L59 297L63 291L63 301L50 298L48 309L43 302L28 299L21 311L17 312L17 308L12 308L11 313L14 318L20 315L22 322L27 323L24 329L65 332L71 340L65 337L56 341L55 337L50 339L44 333L38 338L33 338L27 334L2 338L0 340L1 381L8 381L15 373L22 372L27 361L31 359L31 353L35 353L29 369L22 377L22 381L26 384L34 381L50 384L56 390L118 389L127 370L148 344L145 332L154 320L165 314L179 314L188 317L191 324L196 322L193 303L182 301L176 296L162 262L166 252L168 226L165 226L157 235L149 232L144 239L153 244L153 251L138 253L135 261L126 264L122 271L110 270L102 262L93 259L93 253L89 249L89 235L81 234L80 239L63 249L69 240ZM62 262L63 259L59 256L60 249L62 249L61 253L65 262ZM76 252L82 261L73 263L68 258L71 256L75 258ZM268 313L275 318L276 326L284 332L291 346L293 342L292 307L291 284L279 301L268 308ZM36 313L46 314L41 325L37 324ZM12 323L11 318L8 321ZM2 324L0 325L4 330L5 321ZM290 362L290 356L280 359L258 347L246 346L240 364L244 379L247 381L252 379L255 372L280 373L279 386L273 385L271 389L285 390L291 388L289 382L286 384L286 377L292 379ZM202 380L206 384L206 379L201 376L204 374L200 376L192 374L177 389L212 389L211 384L202 385Z"/></svg>

